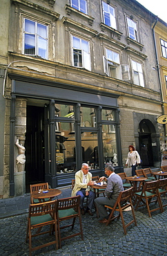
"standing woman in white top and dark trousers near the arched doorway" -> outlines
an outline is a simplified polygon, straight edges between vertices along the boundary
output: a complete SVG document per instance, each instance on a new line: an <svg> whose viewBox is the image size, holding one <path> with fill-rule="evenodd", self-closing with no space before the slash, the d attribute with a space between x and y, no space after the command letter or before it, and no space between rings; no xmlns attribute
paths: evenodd
<svg viewBox="0 0 167 256"><path fill-rule="evenodd" d="M126 166L131 166L132 167L132 176L134 176L135 170L137 165L139 165L139 163L141 163L141 159L139 156L139 153L135 150L135 147L133 147L132 145L129 146L129 152L128 152L128 159L126 161Z"/></svg>

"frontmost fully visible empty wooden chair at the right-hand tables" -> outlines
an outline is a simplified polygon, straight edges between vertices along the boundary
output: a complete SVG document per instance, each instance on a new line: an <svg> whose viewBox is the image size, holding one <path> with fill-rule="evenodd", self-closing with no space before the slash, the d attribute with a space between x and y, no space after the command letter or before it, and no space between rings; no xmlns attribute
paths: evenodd
<svg viewBox="0 0 167 256"><path fill-rule="evenodd" d="M161 212L163 211L161 206L161 199L158 192L158 186L159 181L146 182L144 183L144 188L141 192L135 192L135 196L137 197L137 205L135 210L137 210L137 208L139 208L140 206L146 205L149 217L151 217L151 212L154 212L155 210L160 209ZM150 203L153 202L153 198L157 199L159 208L153 208L152 210L150 210Z"/></svg>

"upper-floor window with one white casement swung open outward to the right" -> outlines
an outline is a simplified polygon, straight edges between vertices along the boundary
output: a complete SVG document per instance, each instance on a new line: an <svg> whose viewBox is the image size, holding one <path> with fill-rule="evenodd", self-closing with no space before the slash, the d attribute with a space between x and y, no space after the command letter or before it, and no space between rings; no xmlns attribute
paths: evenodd
<svg viewBox="0 0 167 256"><path fill-rule="evenodd" d="M113 78L130 80L128 65L120 65L119 53L107 48L104 56L104 73Z"/></svg>

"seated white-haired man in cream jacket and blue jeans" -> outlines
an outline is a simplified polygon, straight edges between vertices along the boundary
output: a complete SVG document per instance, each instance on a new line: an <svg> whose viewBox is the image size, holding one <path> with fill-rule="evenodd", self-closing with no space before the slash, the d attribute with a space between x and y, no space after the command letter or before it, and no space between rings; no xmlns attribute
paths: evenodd
<svg viewBox="0 0 167 256"><path fill-rule="evenodd" d="M83 200L88 196L88 206L86 211L92 216L92 205L95 199L95 193L90 190L90 185L94 185L92 181L92 174L88 172L89 167L87 163L81 165L81 170L75 174L75 186L72 190L71 196L81 196L81 214L85 214L83 209Z"/></svg>

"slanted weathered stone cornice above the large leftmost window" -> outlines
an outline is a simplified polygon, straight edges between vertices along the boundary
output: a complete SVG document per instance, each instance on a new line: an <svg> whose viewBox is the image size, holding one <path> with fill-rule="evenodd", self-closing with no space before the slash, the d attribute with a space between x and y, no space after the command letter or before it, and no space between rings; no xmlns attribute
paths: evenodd
<svg viewBox="0 0 167 256"><path fill-rule="evenodd" d="M52 0L52 1L48 0L48 1L49 1L49 3L52 3L52 1L55 1L55 0ZM26 0L12 0L12 3L18 4L20 6L26 6L28 8L33 9L33 10L39 10L39 12L44 12L45 14L54 17L55 20L59 19L59 16L60 16L59 13L54 12L53 10L50 10L48 8L44 8L43 6L39 6L36 3L31 3L30 1L26 1Z"/></svg>

